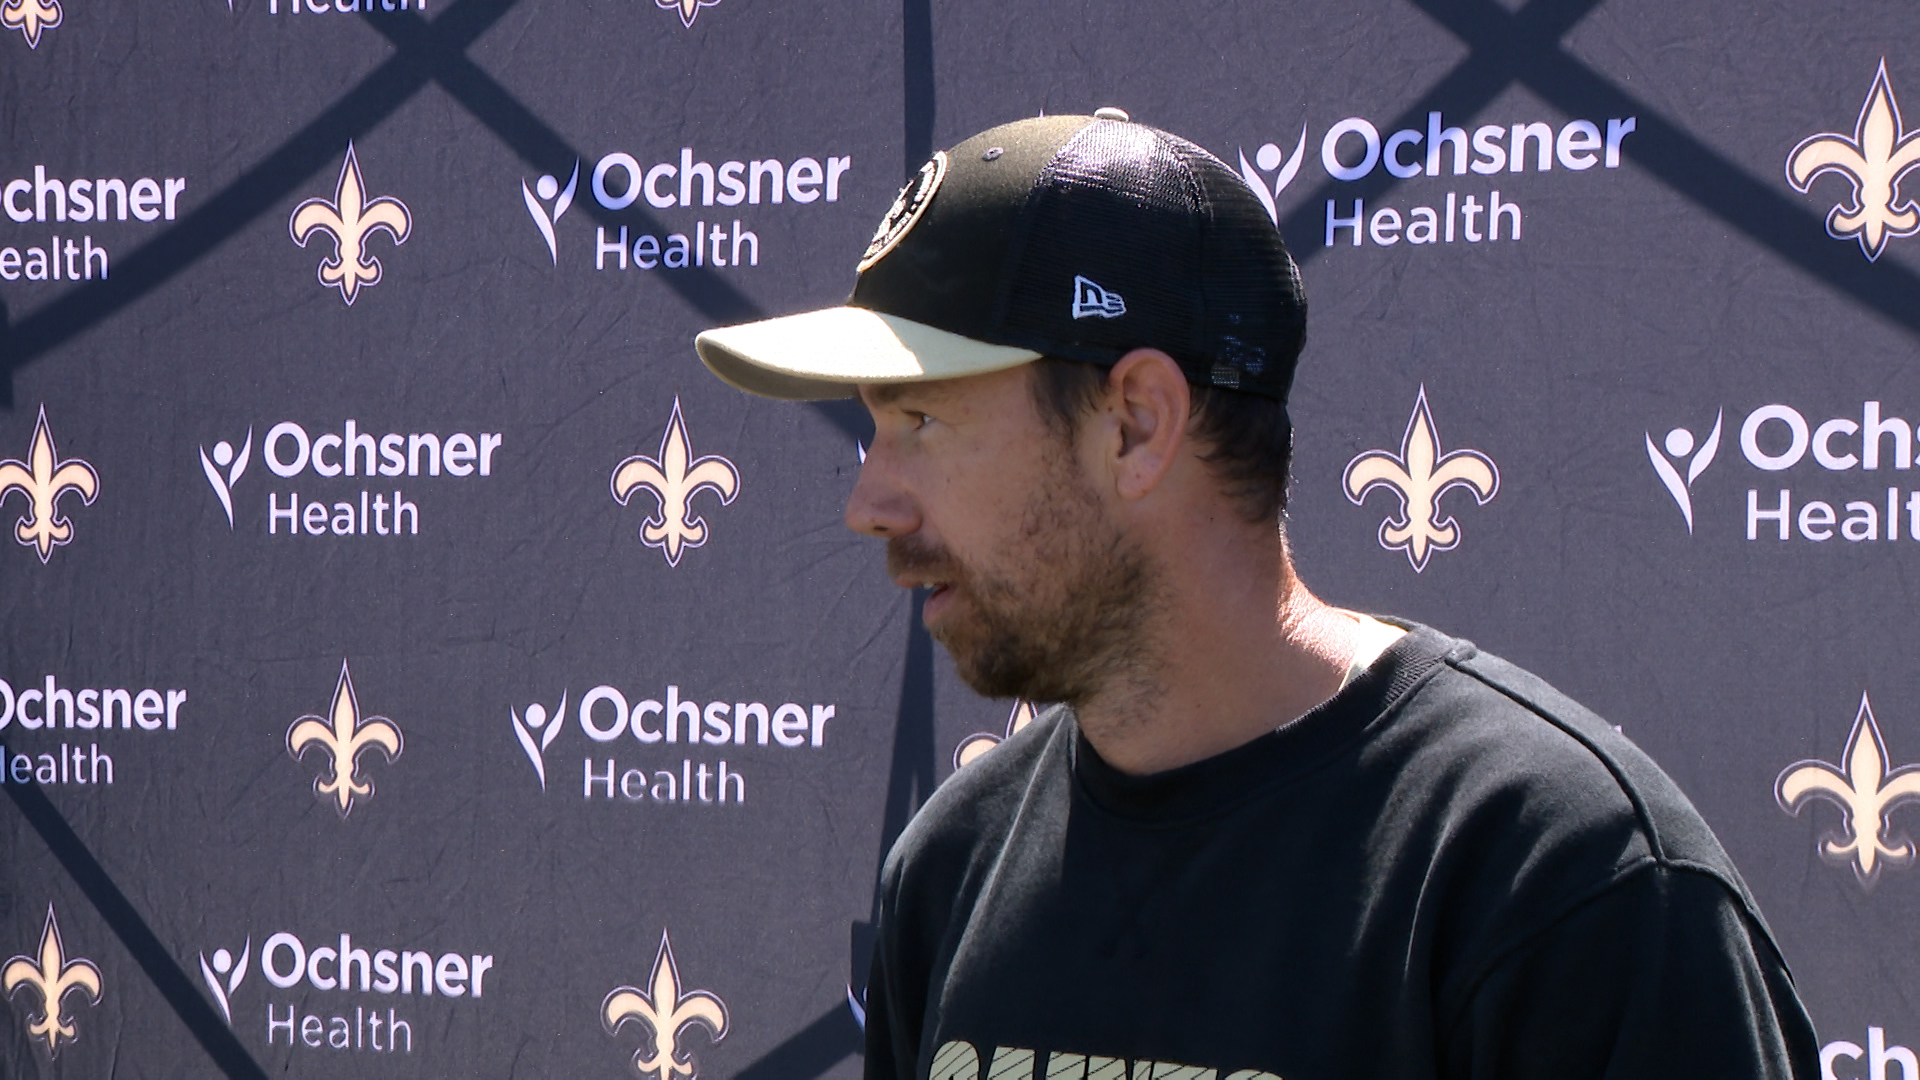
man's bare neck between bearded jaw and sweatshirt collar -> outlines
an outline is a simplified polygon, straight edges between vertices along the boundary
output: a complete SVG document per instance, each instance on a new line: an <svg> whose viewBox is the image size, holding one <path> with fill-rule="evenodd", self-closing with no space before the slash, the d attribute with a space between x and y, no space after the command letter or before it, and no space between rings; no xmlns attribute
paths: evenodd
<svg viewBox="0 0 1920 1080"><path fill-rule="evenodd" d="M1233 563L1246 567L1200 557L1169 569L1179 580L1165 582L1171 605L1154 626L1154 663L1075 707L1114 769L1164 773L1225 753L1340 688L1357 648L1354 619L1300 584L1284 546L1263 561L1265 582L1219 573Z"/></svg>

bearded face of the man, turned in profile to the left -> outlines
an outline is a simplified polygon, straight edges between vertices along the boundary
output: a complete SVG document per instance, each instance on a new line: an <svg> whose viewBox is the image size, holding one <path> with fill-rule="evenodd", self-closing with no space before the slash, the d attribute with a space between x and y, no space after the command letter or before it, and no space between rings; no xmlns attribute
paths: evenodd
<svg viewBox="0 0 1920 1080"><path fill-rule="evenodd" d="M847 525L887 540L895 584L931 590L927 630L968 686L1083 701L1142 659L1154 577L1089 479L1087 425L1048 429L1029 379L864 388L874 446Z"/></svg>

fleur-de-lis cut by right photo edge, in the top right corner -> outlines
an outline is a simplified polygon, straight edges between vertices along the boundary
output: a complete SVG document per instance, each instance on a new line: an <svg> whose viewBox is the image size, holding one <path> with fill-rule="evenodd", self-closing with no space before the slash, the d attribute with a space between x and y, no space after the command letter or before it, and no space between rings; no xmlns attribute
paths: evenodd
<svg viewBox="0 0 1920 1080"><path fill-rule="evenodd" d="M1853 202L1834 206L1826 215L1826 234L1857 238L1868 261L1878 259L1889 236L1920 233L1920 209L1901 198L1901 179L1920 167L1920 131L1901 127L1901 106L1887 83L1882 58L1874 88L1866 92L1853 138L1820 133L1801 140L1788 154L1788 183L1805 192L1820 173L1839 173L1853 184Z"/></svg>

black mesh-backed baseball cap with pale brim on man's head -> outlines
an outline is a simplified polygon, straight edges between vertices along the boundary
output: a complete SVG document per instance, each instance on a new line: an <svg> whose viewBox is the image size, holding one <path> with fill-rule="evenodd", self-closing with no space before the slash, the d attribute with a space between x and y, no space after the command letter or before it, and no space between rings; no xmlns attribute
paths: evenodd
<svg viewBox="0 0 1920 1080"><path fill-rule="evenodd" d="M1119 110L1000 125L933 156L887 209L839 307L695 338L741 390L849 398L1043 356L1171 356L1198 386L1284 404L1300 271L1219 158Z"/></svg>

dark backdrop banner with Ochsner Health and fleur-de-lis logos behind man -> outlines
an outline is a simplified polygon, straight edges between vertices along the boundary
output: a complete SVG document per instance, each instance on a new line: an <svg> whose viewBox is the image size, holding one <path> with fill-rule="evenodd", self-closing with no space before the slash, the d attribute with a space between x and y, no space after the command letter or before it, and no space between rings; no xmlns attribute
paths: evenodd
<svg viewBox="0 0 1920 1080"><path fill-rule="evenodd" d="M1920 1080L1910 2L0 0L0 1076L858 1076L879 859L1033 709L841 525L864 409L691 340L1117 106L1300 258L1302 577L1619 724L1828 1076Z"/></svg>

